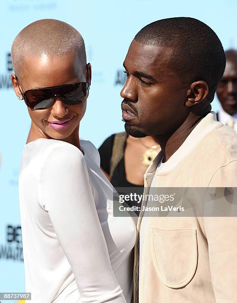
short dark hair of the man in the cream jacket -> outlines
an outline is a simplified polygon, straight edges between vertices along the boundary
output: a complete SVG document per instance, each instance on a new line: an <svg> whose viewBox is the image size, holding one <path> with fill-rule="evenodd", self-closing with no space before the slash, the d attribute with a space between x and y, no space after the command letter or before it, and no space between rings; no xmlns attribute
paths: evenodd
<svg viewBox="0 0 237 303"><path fill-rule="evenodd" d="M145 45L172 49L170 67L182 80L204 80L214 90L221 80L226 59L215 32L205 23L190 17L155 21L142 28L134 38Z"/></svg>

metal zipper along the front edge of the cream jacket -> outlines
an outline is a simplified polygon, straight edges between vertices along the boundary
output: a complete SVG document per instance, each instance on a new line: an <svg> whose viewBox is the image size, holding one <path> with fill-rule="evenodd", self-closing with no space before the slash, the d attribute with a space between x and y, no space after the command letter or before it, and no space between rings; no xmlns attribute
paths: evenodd
<svg viewBox="0 0 237 303"><path fill-rule="evenodd" d="M149 194L149 183L148 183L148 178L145 178L146 181L146 193L145 193L145 202L144 204L142 203L143 206L147 206L147 195ZM144 207L143 207L144 208ZM139 268L139 241L140 241L140 227L141 227L141 222L142 218L144 216L145 210L142 211L141 216L138 218L138 228L137 228L137 240L135 243L135 258L136 258L136 264L134 268L134 303L138 303L138 268Z"/></svg>

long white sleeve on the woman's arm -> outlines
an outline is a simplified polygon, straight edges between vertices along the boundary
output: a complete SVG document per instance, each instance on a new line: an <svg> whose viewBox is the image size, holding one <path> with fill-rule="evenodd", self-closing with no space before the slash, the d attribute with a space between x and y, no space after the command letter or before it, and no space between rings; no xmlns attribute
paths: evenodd
<svg viewBox="0 0 237 303"><path fill-rule="evenodd" d="M48 212L72 267L81 301L125 303L78 148L57 144L46 150L38 190L40 205Z"/></svg>

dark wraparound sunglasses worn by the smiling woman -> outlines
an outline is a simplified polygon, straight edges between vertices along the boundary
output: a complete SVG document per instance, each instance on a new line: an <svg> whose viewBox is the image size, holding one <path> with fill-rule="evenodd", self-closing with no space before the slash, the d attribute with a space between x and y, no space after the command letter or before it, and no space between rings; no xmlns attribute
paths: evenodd
<svg viewBox="0 0 237 303"><path fill-rule="evenodd" d="M17 77L16 81L18 83ZM28 90L25 93L21 91L20 87L19 90L27 106L32 109L45 109L51 107L58 96L68 105L82 103L88 97L89 88L90 86L88 83L79 82Z"/></svg>

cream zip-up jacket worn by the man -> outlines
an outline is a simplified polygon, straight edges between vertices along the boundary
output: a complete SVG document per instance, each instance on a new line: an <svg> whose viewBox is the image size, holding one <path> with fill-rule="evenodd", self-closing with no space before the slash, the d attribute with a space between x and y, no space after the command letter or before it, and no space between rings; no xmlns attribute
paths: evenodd
<svg viewBox="0 0 237 303"><path fill-rule="evenodd" d="M146 193L161 157L144 175ZM156 174L162 188L237 187L237 134L210 112ZM206 191L201 199L205 205ZM237 302L236 216L148 217L138 269L143 215L135 245L136 303L138 289L139 303Z"/></svg>

